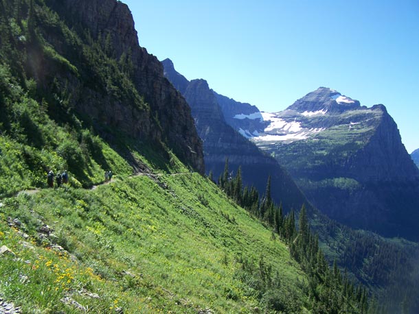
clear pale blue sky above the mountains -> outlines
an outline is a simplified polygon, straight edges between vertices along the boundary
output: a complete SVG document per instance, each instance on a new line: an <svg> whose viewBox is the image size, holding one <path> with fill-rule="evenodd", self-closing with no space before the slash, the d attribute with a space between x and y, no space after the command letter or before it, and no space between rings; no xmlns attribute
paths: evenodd
<svg viewBox="0 0 419 314"><path fill-rule="evenodd" d="M419 1L123 0L139 44L188 80L276 112L319 86L384 104L419 148Z"/></svg>

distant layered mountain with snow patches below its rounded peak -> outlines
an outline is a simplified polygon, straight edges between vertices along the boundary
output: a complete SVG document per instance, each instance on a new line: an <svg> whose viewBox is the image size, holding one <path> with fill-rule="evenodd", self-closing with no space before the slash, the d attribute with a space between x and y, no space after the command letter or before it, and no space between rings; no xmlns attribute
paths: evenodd
<svg viewBox="0 0 419 314"><path fill-rule="evenodd" d="M330 218L389 237L419 239L419 171L385 106L319 88L253 141L274 154Z"/></svg>

